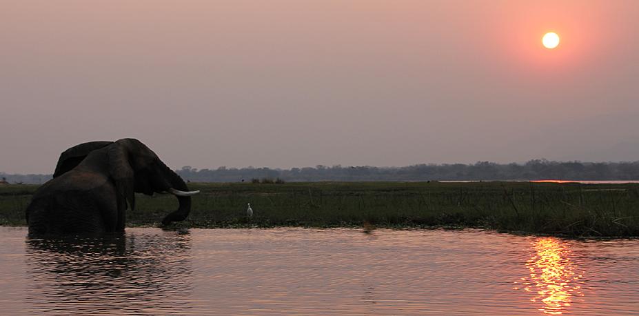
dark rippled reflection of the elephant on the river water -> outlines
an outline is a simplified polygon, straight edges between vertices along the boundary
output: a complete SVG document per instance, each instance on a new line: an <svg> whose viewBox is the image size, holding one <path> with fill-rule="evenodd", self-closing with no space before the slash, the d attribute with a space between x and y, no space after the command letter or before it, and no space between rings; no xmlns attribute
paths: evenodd
<svg viewBox="0 0 639 316"><path fill-rule="evenodd" d="M184 313L191 297L190 235L162 232L26 243L33 315L168 315Z"/></svg>

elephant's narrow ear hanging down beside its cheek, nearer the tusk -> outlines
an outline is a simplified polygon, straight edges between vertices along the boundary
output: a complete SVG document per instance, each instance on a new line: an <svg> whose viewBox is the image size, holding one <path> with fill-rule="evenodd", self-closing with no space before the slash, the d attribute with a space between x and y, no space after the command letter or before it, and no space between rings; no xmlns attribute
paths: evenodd
<svg viewBox="0 0 639 316"><path fill-rule="evenodd" d="M108 148L109 174L118 195L118 210L126 210L126 202L135 209L135 178L129 162L129 154L124 146L113 144Z"/></svg>

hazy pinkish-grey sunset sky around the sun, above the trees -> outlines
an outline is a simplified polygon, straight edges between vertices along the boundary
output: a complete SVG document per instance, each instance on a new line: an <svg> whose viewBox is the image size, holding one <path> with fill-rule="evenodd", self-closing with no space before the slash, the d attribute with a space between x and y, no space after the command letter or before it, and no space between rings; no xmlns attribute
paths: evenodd
<svg viewBox="0 0 639 316"><path fill-rule="evenodd" d="M122 137L172 168L639 160L638 30L636 0L0 0L0 172Z"/></svg>

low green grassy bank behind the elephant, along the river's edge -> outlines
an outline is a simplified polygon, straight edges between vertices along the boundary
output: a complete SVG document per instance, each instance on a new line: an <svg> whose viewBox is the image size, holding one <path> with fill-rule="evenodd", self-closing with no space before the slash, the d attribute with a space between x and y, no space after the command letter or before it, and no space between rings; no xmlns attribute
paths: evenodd
<svg viewBox="0 0 639 316"><path fill-rule="evenodd" d="M37 186L0 187L0 224L21 226ZM638 184L320 182L190 184L201 190L176 226L478 227L571 237L639 236ZM245 217L251 203L254 217ZM138 195L129 226L157 226L170 195Z"/></svg>

